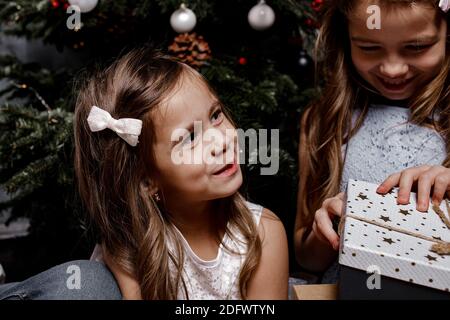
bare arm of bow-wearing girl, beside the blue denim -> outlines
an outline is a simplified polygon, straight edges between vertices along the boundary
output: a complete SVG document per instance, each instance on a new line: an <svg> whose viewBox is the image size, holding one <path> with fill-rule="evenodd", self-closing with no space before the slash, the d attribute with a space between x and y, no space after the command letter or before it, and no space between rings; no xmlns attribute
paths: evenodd
<svg viewBox="0 0 450 320"><path fill-rule="evenodd" d="M141 288L136 279L114 262L102 246L103 261L116 278L124 300L142 300Z"/></svg>

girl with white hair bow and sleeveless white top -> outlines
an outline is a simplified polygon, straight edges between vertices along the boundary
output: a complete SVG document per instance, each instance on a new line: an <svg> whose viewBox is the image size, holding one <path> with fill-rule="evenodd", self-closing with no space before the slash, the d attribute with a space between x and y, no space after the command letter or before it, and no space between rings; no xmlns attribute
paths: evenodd
<svg viewBox="0 0 450 320"><path fill-rule="evenodd" d="M81 88L74 128L80 194L125 299L287 298L283 225L238 193L236 131L198 72L134 50Z"/></svg>

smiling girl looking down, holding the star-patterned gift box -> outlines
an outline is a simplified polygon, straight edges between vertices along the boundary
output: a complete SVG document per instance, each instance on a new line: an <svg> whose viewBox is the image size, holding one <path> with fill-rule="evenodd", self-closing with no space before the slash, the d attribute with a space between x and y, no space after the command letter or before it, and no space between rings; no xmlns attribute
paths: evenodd
<svg viewBox="0 0 450 320"><path fill-rule="evenodd" d="M368 23L377 5L380 28ZM418 210L450 190L448 1L331 0L317 40L327 83L301 120L297 261L316 272L336 261L349 179L399 185ZM372 6L371 8L369 8ZM334 263L336 267L336 263ZM337 280L330 268L324 282Z"/></svg>

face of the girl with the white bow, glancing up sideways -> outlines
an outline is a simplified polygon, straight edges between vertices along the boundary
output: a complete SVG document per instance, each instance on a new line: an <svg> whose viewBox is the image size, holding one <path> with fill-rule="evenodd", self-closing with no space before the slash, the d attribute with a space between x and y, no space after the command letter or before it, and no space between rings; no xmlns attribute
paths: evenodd
<svg viewBox="0 0 450 320"><path fill-rule="evenodd" d="M169 203L227 197L242 184L236 130L202 80L182 77L154 115L156 180Z"/></svg>

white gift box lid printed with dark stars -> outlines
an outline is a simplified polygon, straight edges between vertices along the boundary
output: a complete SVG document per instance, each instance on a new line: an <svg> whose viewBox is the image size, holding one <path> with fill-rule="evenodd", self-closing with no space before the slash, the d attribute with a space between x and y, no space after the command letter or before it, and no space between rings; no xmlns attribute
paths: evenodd
<svg viewBox="0 0 450 320"><path fill-rule="evenodd" d="M416 194L408 205L397 204L398 189L386 195L378 185L350 180L341 232L339 263L439 290L450 289L450 255L431 248L450 242L450 229L432 208L416 210ZM446 201L441 215L449 219Z"/></svg>

